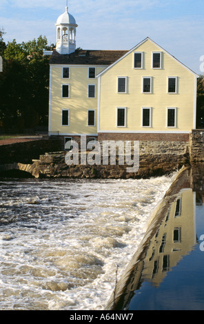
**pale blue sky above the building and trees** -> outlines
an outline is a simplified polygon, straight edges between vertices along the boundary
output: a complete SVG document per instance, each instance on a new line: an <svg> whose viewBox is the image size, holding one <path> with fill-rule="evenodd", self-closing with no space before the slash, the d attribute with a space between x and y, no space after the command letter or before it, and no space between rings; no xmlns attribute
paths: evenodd
<svg viewBox="0 0 204 324"><path fill-rule="evenodd" d="M66 0L0 0L5 41L39 37L56 42L55 23ZM204 55L203 0L68 0L76 19L76 46L90 50L130 50L150 37L194 72Z"/></svg>

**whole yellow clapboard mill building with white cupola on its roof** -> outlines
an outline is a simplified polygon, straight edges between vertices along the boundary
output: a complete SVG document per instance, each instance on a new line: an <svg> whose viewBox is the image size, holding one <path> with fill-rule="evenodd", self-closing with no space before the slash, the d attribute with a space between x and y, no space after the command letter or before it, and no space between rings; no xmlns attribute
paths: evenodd
<svg viewBox="0 0 204 324"><path fill-rule="evenodd" d="M68 7L56 28L50 136L61 136L66 148L81 135L88 141L189 140L196 128L196 73L149 37L126 51L76 49L77 24Z"/></svg>

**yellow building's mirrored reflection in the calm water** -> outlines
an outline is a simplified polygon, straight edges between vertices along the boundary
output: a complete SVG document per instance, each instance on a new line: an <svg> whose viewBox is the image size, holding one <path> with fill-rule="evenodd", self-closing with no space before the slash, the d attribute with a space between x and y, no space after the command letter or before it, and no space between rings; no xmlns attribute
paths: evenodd
<svg viewBox="0 0 204 324"><path fill-rule="evenodd" d="M160 285L166 272L192 250L196 243L195 193L181 190L170 205L165 219L150 242L143 261L141 281Z"/></svg>

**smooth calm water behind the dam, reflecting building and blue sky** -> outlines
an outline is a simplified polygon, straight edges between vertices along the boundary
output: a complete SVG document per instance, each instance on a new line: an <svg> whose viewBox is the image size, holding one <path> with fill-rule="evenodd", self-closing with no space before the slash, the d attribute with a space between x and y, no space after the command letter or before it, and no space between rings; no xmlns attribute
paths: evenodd
<svg viewBox="0 0 204 324"><path fill-rule="evenodd" d="M204 310L203 179L203 165L177 176L107 309Z"/></svg>

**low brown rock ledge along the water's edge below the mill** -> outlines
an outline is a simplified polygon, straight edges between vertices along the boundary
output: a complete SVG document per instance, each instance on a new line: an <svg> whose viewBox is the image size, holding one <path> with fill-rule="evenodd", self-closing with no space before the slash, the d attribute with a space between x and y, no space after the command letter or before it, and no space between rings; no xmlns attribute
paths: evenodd
<svg viewBox="0 0 204 324"><path fill-rule="evenodd" d="M116 156L116 165L67 165L66 152L50 152L33 160L32 164L14 163L13 168L29 172L34 178L78 178L78 179L130 179L147 178L170 174L185 164L183 154L142 154L139 156L139 170L128 172L130 165L119 165L119 156ZM0 172L11 170L12 165L0 165Z"/></svg>

